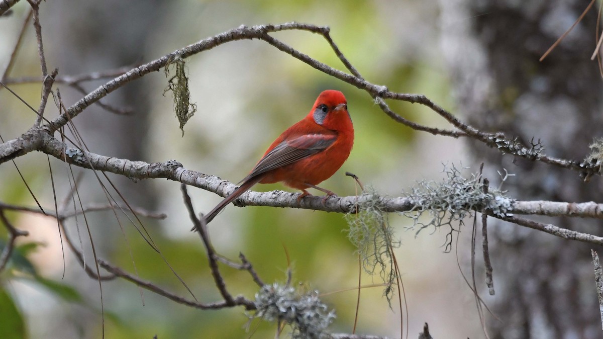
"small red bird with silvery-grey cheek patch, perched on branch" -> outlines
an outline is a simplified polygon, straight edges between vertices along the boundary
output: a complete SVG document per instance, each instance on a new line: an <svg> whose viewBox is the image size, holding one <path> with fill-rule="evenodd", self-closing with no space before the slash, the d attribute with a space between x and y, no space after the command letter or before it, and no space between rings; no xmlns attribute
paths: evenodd
<svg viewBox="0 0 603 339"><path fill-rule="evenodd" d="M305 118L287 128L268 147L241 186L224 198L204 218L209 223L226 207L256 183L283 182L286 186L308 188L325 192L325 198L334 195L316 185L329 179L350 155L354 144L354 127L347 112L346 97L338 90L325 90L318 95L314 106Z"/></svg>

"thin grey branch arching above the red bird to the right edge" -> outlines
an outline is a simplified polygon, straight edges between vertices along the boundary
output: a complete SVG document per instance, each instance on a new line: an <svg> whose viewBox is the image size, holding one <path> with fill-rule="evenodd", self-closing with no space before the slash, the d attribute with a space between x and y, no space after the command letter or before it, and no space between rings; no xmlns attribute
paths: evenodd
<svg viewBox="0 0 603 339"><path fill-rule="evenodd" d="M429 131L430 133L440 133L440 134L449 135L449 136L465 136L466 135L466 136L469 136L470 138L481 141L488 147L497 148L497 149L500 149L507 153L513 153L517 157L523 157L524 159L528 159L528 160L535 160L535 161L540 161L540 162L544 162L544 163L549 163L551 165L558 166L561 168L567 168L570 170L579 171L579 173L598 174L598 172L599 172L599 166L596 166L596 165L591 165L588 163L579 163L575 160L565 160L565 159L559 159L559 158L555 158L555 157L549 157L549 156L546 156L546 154L542 154L541 152L534 154L533 152L531 152L529 150L529 148L517 145L517 142L505 137L505 135L503 133L485 133L483 131L479 131L478 129L466 124L465 122L460 121L458 118L456 118L454 115L452 115L452 113L450 113L447 110L443 109L442 107L438 106L437 104L435 104L434 102L429 100L429 98L425 97L425 95L391 92L385 86L378 86L376 84L371 84L362 78L356 77L355 75L346 74L344 72L330 68L329 66L325 65L324 63L318 62L317 60L312 59L311 57L308 57L308 55L298 52L297 50L291 48L291 46L288 46L285 43L280 42L279 40L276 40L267 34L267 33L282 31L282 30L308 30L308 31L312 31L313 33L324 34L324 33L328 32L329 28L328 27L317 27L317 26L308 25L308 24L298 24L295 22L289 22L289 23L281 24L281 25L259 25L259 26L253 26L253 27L241 26L239 28L236 28L236 29L233 29L230 31L226 31L222 34L218 34L216 36L209 37L207 39L201 40L200 42L189 45L185 48L178 49L177 51L174 51L168 55L164 55L163 57L156 59L150 63L146 63L137 68L133 68L130 71L126 72L125 74L109 81L108 83L104 84L103 86L98 87L96 90L93 90L92 92L87 94L86 97L81 98L81 100L79 100L77 103L75 103L74 105L69 107L69 109L66 110L66 112L64 112L62 115L60 115L57 119L52 121L52 124L51 124L51 126L48 127L48 130L51 133L54 132L58 128L65 125L68 122L69 118L73 118L74 116L77 116L86 107L90 106L91 104L95 103L96 101L100 100L101 98L106 97L106 95L108 95L109 93L118 89L119 87L123 86L125 83L127 83L129 81L136 80L137 78L143 77L144 75L146 75L150 72L159 71L159 69L163 68L169 62L169 60L172 60L176 56L186 58L193 54L197 54L202 51L206 51L207 49L213 48L215 46L222 45L224 43L232 42L235 40L261 39L261 40L264 40L264 41L270 43L270 45L273 45L277 49L280 49L281 51L286 52L286 53L292 55L293 57L307 63L308 65L312 66L313 68L318 69L321 72L324 72L327 75L338 78L339 80L352 84L353 86L356 86L359 89L367 91L371 95L371 97L376 98L376 100L377 100L377 98L392 99L392 100L407 101L409 103L418 103L423 106L426 106L429 109L431 109L432 111L434 111L435 113L438 113L438 115L442 116L444 119L446 119L448 122L450 122L450 124L452 124L454 127L458 128L464 134L456 132L456 131L425 129L423 127L417 126L417 128L422 128L421 130L426 130L426 131ZM343 54L341 54L341 55L343 55ZM377 100L377 101L380 102L379 100ZM382 108L387 107L384 105L385 104L382 103L382 105L381 105ZM385 110L385 112L388 113L387 110ZM68 118L68 116L69 116L69 118ZM37 131L37 132L42 133L42 131ZM23 142L23 141L22 141L22 138L17 138L15 140L15 142ZM507 145L512 144L514 148L508 149L505 147L501 147L501 145L505 145L505 144L507 144ZM2 150L2 146L3 145L0 145L0 163L4 162L5 159L7 159L5 156L3 156L4 151ZM21 153L19 153L19 155L25 154L31 150L33 150L33 148L19 150L19 151L21 151Z"/></svg>

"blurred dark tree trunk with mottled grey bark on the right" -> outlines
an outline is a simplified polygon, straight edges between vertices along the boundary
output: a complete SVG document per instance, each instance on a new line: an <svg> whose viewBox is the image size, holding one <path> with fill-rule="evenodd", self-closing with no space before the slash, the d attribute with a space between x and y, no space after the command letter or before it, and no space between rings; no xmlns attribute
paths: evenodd
<svg viewBox="0 0 603 339"><path fill-rule="evenodd" d="M589 1L441 1L441 45L458 113L482 130L501 130L528 143L540 138L545 153L584 159L601 138L601 90L595 48L596 5L543 62L538 59ZM583 183L573 171L502 156L469 142L475 168L487 177L507 168L511 197L522 200L600 201L601 179ZM593 220L540 221L601 235ZM601 320L589 246L522 227L490 226L496 298L502 323L493 338L600 338Z"/></svg>

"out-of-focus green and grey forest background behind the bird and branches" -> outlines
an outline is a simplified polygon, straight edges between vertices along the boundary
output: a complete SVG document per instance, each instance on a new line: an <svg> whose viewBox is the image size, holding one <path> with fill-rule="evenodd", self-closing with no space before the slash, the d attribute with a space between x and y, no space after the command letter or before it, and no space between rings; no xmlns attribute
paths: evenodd
<svg viewBox="0 0 603 339"><path fill-rule="evenodd" d="M79 1L77 5L55 0L42 3L40 20L48 68L58 68L60 75L149 62L242 24L297 21L328 25L333 40L368 81L397 92L423 93L484 130L503 130L525 141L536 136L543 139L551 155L582 159L588 153L589 142L598 136L601 122L601 80L596 62L588 60L595 46L595 10L566 38L557 54L544 63L537 60L587 5L587 1L577 0L546 4L107 0ZM0 65L8 62L28 4L21 1L13 10L12 16L0 18ZM344 70L324 39L316 34L290 31L274 37ZM486 162L485 172L493 185L499 181L496 171L502 168L518 174L507 185L511 195L520 200L597 200L593 193L600 192L599 179L590 186L582 185L575 173L516 162L483 145L403 127L385 116L367 93L259 40L227 43L186 62L191 100L198 112L186 125L183 137L171 94L163 95L166 77L157 72L128 83L102 100L130 107L133 114L115 115L95 105L78 116L75 124L90 151L145 162L175 159L189 170L238 182L281 131L308 113L321 90L338 89L347 97L356 131L349 160L322 185L338 195L358 193L353 180L344 176L346 171L381 194L399 196L417 181L442 179L443 163L470 166L469 174L478 170L481 162ZM39 74L35 36L30 28L10 77ZM83 87L90 91L106 81L89 81ZM39 84L11 87L37 107ZM69 86L58 87L68 106L81 98L81 93ZM390 104L405 118L449 128L424 107ZM0 111L0 135L4 140L21 135L35 120L33 113L7 90L0 90ZM57 114L51 100L46 112L48 117ZM54 209L45 155L30 153L16 162L42 206ZM67 170L58 160L51 162L60 201L69 192ZM163 179L133 182L109 176L133 206L168 215L166 220L145 219L145 226L197 299L219 300L200 239L189 232L191 222L178 183ZM0 201L34 206L13 165L0 166L0 177ZM275 184L254 189L284 188ZM221 200L201 189L190 188L189 192L198 212L209 211ZM91 173L84 174L80 194L84 204L106 203ZM17 253L20 260L11 262L10 270L1 273L2 307L12 310L17 323L24 322L28 338L99 337L103 324L98 282L82 271L68 250L63 277L63 253L55 221L27 214L7 215L17 227L30 231L20 244L34 245L22 247ZM126 218L122 219L123 230L113 212L89 215L98 256L187 296L160 256ZM406 229L411 225L408 219L391 215L390 221L402 244L396 255L405 284L410 337L415 337L425 322L434 338L484 337L473 293L459 272L454 249L444 253L447 230L415 235L414 230ZM558 222L559 226L576 226L573 220ZM598 337L595 329L600 323L588 247L518 226L491 226L492 246L496 249L491 253L494 284L499 289L496 296L481 293L502 320L498 323L487 317L493 337ZM219 253L229 258L244 253L269 283L285 281L286 251L295 282L326 294L324 302L336 310L337 318L330 330L352 332L358 256L346 238L346 227L340 214L231 205L212 222L210 233ZM72 238L81 234L82 246L91 260L83 221L76 224L70 220L66 229ZM470 229L461 229L459 261L465 274L470 272L469 236ZM534 238L535 243L531 242ZM570 252L560 250L560 246L569 247ZM564 253L570 253L570 259ZM541 274L532 277L535 267L541 268ZM223 274L234 294L253 298L257 287L247 273L225 267ZM482 280L479 275L480 286ZM363 285L379 283L379 276L362 274ZM357 333L400 336L397 306L390 308L382 293L381 287L362 290ZM552 295L557 303L546 301ZM121 279L103 282L103 306L108 338L270 338L276 333L273 324L259 320L248 323L241 308L200 311L147 291L141 297L136 286ZM567 318L568 312L571 319ZM14 333L15 338L21 337L21 332Z"/></svg>

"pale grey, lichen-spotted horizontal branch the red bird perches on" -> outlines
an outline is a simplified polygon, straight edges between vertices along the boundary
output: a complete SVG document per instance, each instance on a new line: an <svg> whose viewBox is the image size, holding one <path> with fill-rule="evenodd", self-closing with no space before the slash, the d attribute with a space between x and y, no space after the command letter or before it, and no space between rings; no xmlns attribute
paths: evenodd
<svg viewBox="0 0 603 339"><path fill-rule="evenodd" d="M39 144L42 144L39 147L40 151L50 154L59 160L65 159L68 163L83 168L90 168L90 164L92 164L96 170L121 174L133 179L166 178L214 192L221 197L226 197L237 187L227 180L199 173L197 171L186 170L181 163L175 160L169 160L168 162L163 163L146 163L116 157L106 157L67 147L62 142L55 138L51 138L48 135L46 135L46 138L40 141ZM237 206L271 206L349 213L355 211L358 204L374 198L373 195L360 195L358 197L329 197L326 201L322 201L322 197L306 197L298 202L298 195L298 193L285 191L249 191L237 198L235 204ZM419 203L418 201L412 201L407 197L380 197L379 199L380 208L384 212L411 211ZM478 212L479 211L481 211L481 209L479 209ZM566 216L603 219L603 204L598 204L593 201L587 203L541 200L514 201L509 213L546 215L548 217Z"/></svg>

